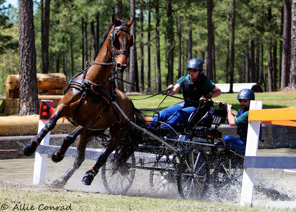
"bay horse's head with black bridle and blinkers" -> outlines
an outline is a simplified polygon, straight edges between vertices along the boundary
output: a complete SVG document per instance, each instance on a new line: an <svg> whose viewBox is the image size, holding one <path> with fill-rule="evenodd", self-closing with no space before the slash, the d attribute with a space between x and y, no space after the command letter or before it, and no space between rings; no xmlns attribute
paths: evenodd
<svg viewBox="0 0 296 212"><path fill-rule="evenodd" d="M114 25L110 30L109 52L112 52L111 54L116 71L122 73L128 64L130 48L135 42L135 38L129 30L133 24L133 19L128 22L123 22L122 20L117 19L113 14L112 22Z"/></svg>

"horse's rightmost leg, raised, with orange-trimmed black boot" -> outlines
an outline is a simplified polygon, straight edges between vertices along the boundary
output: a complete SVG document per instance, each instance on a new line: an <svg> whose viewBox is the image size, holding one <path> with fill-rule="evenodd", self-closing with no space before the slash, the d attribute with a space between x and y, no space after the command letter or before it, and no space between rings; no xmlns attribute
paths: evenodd
<svg viewBox="0 0 296 212"><path fill-rule="evenodd" d="M103 166L106 163L109 155L118 147L118 142L120 142L127 135L125 130L118 130L120 127L112 128L113 129L110 129L111 140L107 149L101 156L99 156L98 160L96 161L96 164L85 173L81 180L81 182L84 185L91 185L91 182L94 180L94 177L98 174L101 166ZM115 132L116 129L117 131Z"/></svg>

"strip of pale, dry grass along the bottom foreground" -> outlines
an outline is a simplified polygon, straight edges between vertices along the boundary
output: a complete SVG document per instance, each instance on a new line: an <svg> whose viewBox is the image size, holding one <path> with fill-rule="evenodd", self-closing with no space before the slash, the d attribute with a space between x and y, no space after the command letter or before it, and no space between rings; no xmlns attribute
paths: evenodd
<svg viewBox="0 0 296 212"><path fill-rule="evenodd" d="M222 203L200 202L193 200L172 200L163 198L133 197L121 195L109 195L93 192L70 191L48 186L28 186L21 184L8 184L0 182L0 206L8 205L5 211L12 211L20 204L34 206L38 211L47 206L69 206L72 211L222 211L222 212L267 212L267 211L291 211L289 209L251 208L247 206L230 205ZM4 211L4 210L3 210ZM18 211L15 209L14 211ZM49 210L48 210L49 211ZM53 211L53 210L50 210Z"/></svg>

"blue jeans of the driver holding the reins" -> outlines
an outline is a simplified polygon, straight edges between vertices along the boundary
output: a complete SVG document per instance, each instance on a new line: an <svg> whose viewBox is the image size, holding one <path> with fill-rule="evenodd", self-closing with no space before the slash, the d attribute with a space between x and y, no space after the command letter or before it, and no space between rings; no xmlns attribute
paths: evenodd
<svg viewBox="0 0 296 212"><path fill-rule="evenodd" d="M160 111L160 122L165 122L171 127L175 128L178 125L184 124L188 120L190 114L197 107L191 106L188 103L184 103L184 106L175 104L166 109ZM153 122L157 122L157 117L152 119Z"/></svg>

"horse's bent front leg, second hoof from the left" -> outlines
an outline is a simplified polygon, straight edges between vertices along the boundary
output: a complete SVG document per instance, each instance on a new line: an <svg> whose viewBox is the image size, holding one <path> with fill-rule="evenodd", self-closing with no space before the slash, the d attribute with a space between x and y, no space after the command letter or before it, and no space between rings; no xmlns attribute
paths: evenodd
<svg viewBox="0 0 296 212"><path fill-rule="evenodd" d="M67 137L65 137L64 142L62 146L57 150L56 152L52 153L52 161L54 163L58 163L62 159L64 159L65 152L70 147L71 144L73 144L77 138L78 135L81 134L81 132L85 130L85 127L79 125L73 132L71 132Z"/></svg>

